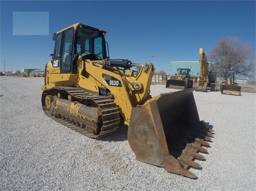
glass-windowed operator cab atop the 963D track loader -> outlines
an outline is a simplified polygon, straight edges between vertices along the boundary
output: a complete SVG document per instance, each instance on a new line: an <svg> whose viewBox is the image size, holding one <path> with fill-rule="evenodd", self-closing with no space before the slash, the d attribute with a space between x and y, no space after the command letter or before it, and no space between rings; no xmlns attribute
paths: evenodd
<svg viewBox="0 0 256 191"><path fill-rule="evenodd" d="M61 73L76 73L76 61L107 59L105 31L77 23L54 33L52 59L59 59Z"/></svg>

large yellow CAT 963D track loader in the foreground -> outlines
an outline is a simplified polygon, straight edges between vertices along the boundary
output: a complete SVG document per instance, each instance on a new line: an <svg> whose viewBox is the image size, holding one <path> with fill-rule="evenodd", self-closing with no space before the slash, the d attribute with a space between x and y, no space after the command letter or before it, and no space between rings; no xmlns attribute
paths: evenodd
<svg viewBox="0 0 256 191"><path fill-rule="evenodd" d="M137 160L196 177L187 167L200 167L192 159L204 158L198 152L213 134L199 120L193 89L152 98L153 64L109 59L105 34L81 23L54 33L41 86L45 114L90 138L113 133L123 118Z"/></svg>

